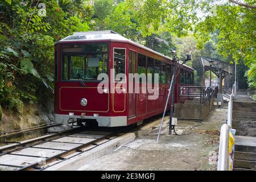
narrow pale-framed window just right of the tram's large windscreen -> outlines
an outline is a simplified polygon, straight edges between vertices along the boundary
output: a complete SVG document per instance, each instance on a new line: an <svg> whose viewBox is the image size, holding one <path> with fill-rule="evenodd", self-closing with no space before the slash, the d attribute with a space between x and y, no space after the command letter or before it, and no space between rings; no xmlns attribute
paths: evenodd
<svg viewBox="0 0 256 182"><path fill-rule="evenodd" d="M114 69L115 69L115 76L117 76L118 73L125 74L125 49L121 49L121 48L114 49ZM115 80L115 81L120 81L120 80Z"/></svg>

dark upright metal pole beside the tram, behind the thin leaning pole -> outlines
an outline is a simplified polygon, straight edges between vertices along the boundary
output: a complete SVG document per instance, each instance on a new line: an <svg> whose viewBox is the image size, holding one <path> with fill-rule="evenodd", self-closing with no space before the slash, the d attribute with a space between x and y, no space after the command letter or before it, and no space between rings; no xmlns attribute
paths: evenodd
<svg viewBox="0 0 256 182"><path fill-rule="evenodd" d="M174 115L174 92L175 92L175 80L176 80L176 64L177 64L177 57L176 57L176 52L172 56L172 61L174 63L174 72L173 72L173 86L172 86L172 98L171 98L171 109L170 109L170 121L169 121L169 135L172 134L172 116Z"/></svg>

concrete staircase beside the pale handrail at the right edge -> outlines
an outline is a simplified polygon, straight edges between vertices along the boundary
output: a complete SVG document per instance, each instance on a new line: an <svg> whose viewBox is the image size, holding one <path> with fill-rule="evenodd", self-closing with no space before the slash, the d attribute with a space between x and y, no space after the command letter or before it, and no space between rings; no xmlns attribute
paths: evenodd
<svg viewBox="0 0 256 182"><path fill-rule="evenodd" d="M246 94L233 101L232 127L236 129L234 170L256 171L256 101Z"/></svg>

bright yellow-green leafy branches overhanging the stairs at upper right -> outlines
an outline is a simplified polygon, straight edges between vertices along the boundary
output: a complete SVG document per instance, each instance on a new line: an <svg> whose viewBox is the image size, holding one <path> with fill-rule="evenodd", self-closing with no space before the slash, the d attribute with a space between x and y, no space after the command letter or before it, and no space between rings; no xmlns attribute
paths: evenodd
<svg viewBox="0 0 256 182"><path fill-rule="evenodd" d="M256 34L253 9L237 6L234 3L217 1L204 2L204 19L196 25L195 35L205 42L210 40L210 35L216 35L218 53L224 57L232 56L232 61L243 60L250 71L246 72L249 86L254 87L254 64L256 63ZM254 0L246 1L249 5L255 4ZM209 13L210 12L210 13ZM254 87L255 88L255 87Z"/></svg>

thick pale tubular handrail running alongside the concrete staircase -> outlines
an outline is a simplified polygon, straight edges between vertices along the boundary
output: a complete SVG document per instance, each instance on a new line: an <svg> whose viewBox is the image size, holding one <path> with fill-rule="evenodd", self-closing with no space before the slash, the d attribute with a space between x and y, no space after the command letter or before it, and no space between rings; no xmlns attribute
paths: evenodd
<svg viewBox="0 0 256 182"><path fill-rule="evenodd" d="M230 101L228 103L228 120L227 123L221 126L220 146L218 150L218 171L229 171L233 168L233 163L229 158L229 132L232 129L232 108L234 98L234 85L230 94Z"/></svg>

